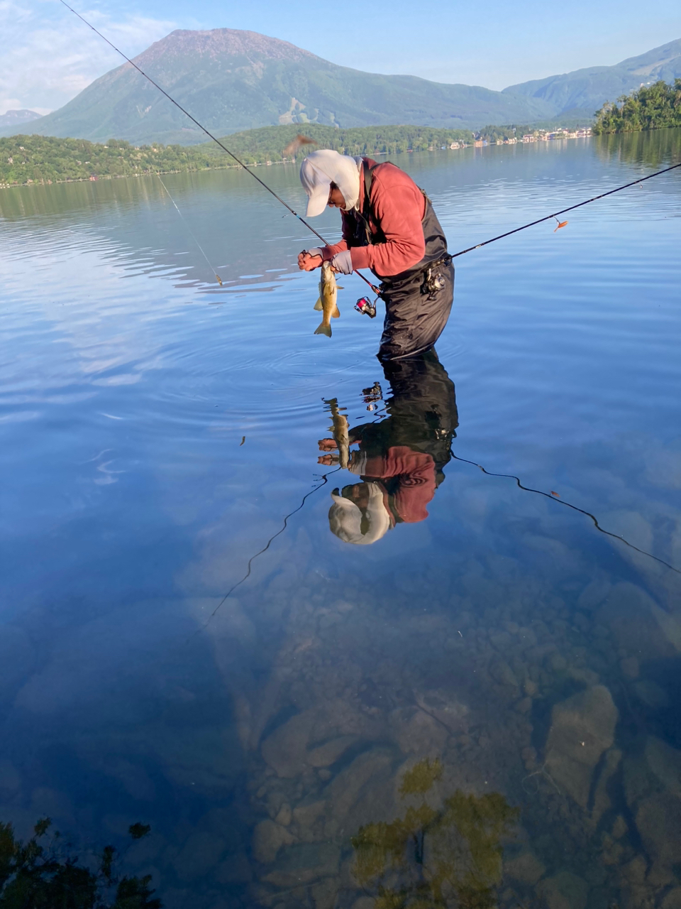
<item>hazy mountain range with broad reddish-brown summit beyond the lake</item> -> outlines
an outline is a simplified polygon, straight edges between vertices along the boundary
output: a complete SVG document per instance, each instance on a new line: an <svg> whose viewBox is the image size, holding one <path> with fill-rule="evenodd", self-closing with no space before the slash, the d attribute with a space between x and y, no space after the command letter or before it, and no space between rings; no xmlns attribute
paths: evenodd
<svg viewBox="0 0 681 909"><path fill-rule="evenodd" d="M288 41L236 28L178 29L134 62L213 135L291 123L302 129L308 123L460 129L532 123L566 111L590 116L608 98L649 80L681 75L676 44L633 57L627 66L549 76L503 92L410 75L362 73ZM60 110L37 119L31 131L94 141L114 136L134 144L192 145L205 139L129 64L100 76ZM15 125L0 124L0 135L12 133Z"/></svg>

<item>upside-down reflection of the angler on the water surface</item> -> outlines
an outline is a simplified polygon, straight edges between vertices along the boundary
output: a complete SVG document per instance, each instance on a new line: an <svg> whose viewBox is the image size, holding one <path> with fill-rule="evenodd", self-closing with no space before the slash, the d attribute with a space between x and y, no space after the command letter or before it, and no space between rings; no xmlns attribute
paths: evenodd
<svg viewBox="0 0 681 909"><path fill-rule="evenodd" d="M459 422L454 384L434 351L384 369L392 388L389 417L350 430L349 445L359 450L350 454L347 469L361 482L331 494L331 531L346 543L375 543L396 524L428 517ZM334 438L335 427L334 419ZM323 440L321 448L330 445ZM342 466L345 454L338 439L336 446Z"/></svg>

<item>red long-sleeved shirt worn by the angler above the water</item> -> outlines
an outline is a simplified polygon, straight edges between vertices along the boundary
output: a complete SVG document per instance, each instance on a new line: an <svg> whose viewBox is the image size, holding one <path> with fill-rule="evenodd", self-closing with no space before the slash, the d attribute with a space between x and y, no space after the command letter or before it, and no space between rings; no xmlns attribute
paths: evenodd
<svg viewBox="0 0 681 909"><path fill-rule="evenodd" d="M368 159L369 166L376 164ZM360 168L359 209L364 205L364 167ZM426 197L410 176L389 162L378 165L371 172L371 210L376 221L370 220L372 234L382 230L385 243L371 246L352 245L355 239L355 218L341 211L342 235L340 243L326 246L322 258L331 259L336 253L350 249L352 268L370 268L380 277L400 275L413 268L426 253L421 222L426 214Z"/></svg>

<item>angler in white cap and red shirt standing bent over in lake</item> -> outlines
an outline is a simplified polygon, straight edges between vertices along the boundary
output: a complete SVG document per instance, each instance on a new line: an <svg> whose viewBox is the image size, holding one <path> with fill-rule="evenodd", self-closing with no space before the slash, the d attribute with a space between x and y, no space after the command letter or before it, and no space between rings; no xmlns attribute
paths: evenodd
<svg viewBox="0 0 681 909"><path fill-rule="evenodd" d="M298 256L304 271L322 262L343 275L370 268L380 279L386 315L379 359L400 360L435 344L454 297L454 267L429 197L396 165L331 149L301 165L307 216L340 208L342 240Z"/></svg>

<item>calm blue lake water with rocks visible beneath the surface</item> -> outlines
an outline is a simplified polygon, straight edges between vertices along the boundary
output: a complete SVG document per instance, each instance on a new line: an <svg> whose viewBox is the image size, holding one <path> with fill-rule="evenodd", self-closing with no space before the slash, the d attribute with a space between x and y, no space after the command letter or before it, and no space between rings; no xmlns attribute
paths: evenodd
<svg viewBox="0 0 681 909"><path fill-rule="evenodd" d="M680 156L396 161L456 252ZM172 909L677 909L681 171L461 256L400 375L249 175L165 179L0 194L0 820L151 824Z"/></svg>

